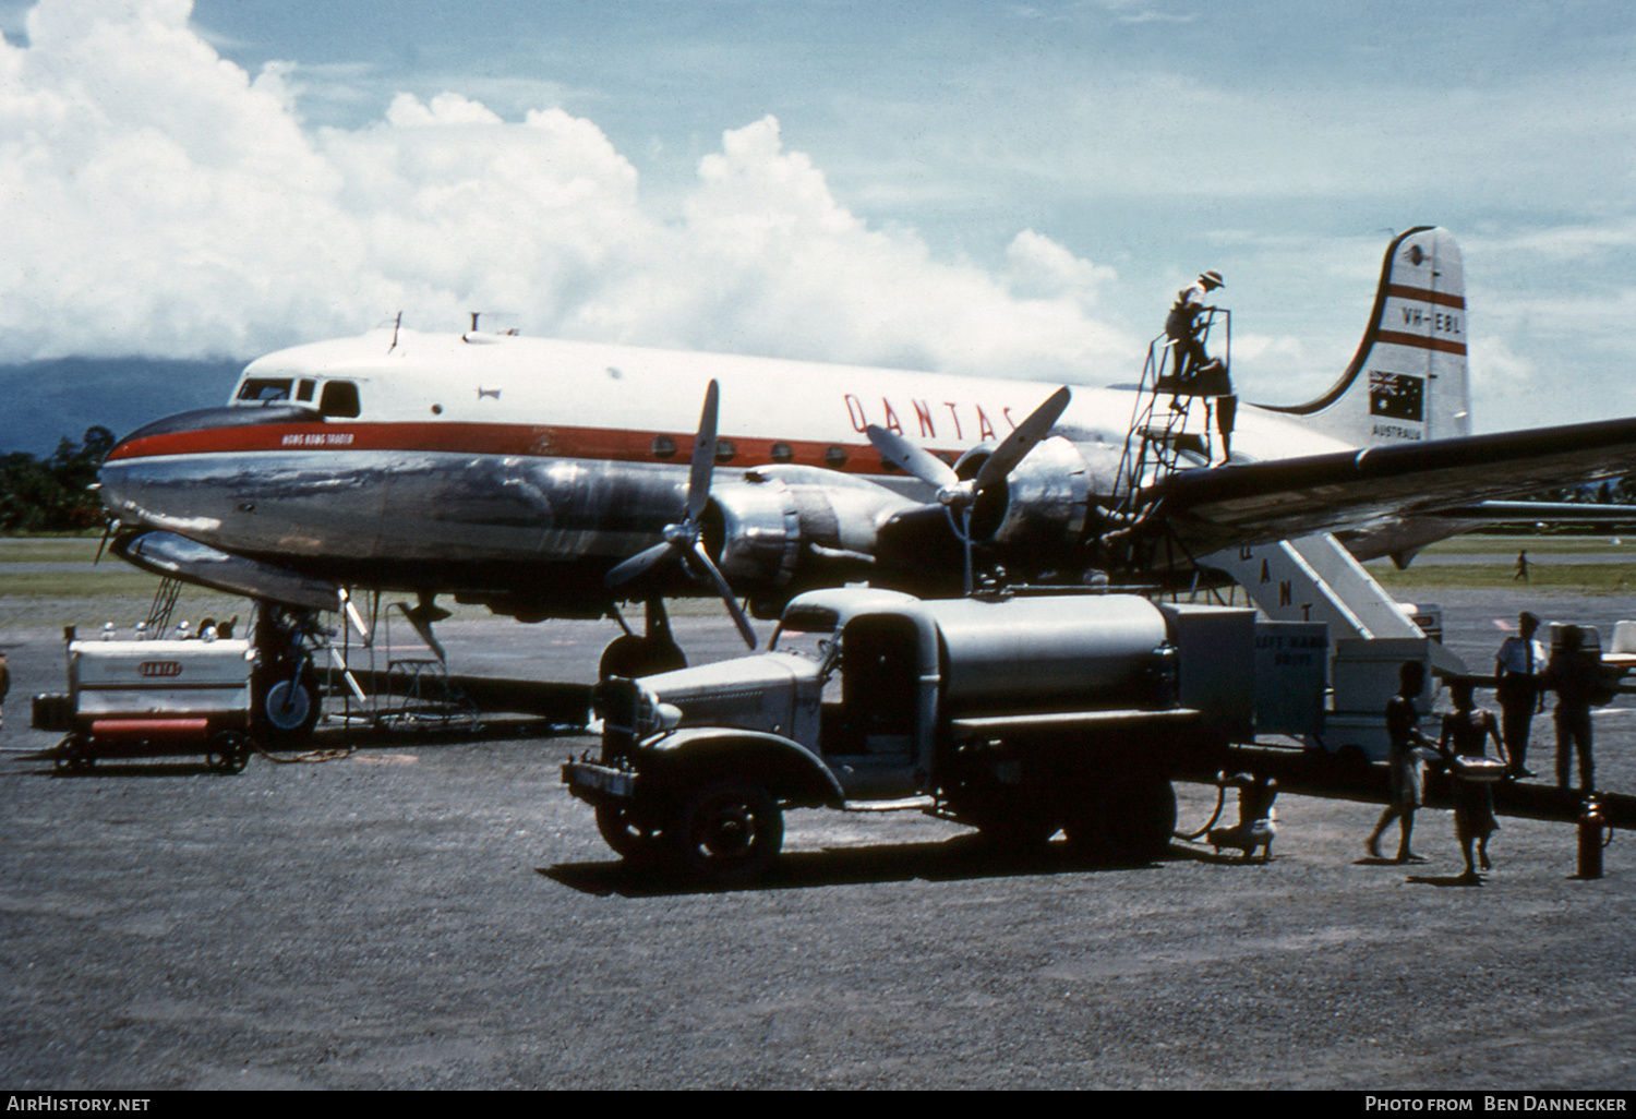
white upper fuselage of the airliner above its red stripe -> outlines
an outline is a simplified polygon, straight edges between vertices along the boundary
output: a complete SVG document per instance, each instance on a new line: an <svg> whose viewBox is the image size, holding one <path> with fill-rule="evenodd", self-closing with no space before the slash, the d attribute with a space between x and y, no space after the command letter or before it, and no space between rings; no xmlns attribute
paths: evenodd
<svg viewBox="0 0 1636 1119"><path fill-rule="evenodd" d="M1005 438L1058 388L782 358L412 330L378 330L280 350L254 362L240 386L290 381L290 394L281 399L294 402L303 380L317 383L308 389L308 399L314 401L329 380L357 384L358 424L542 425L586 437L584 448L540 447L543 453L586 455L594 443L614 456L633 458L651 450L638 443L667 434L681 443L676 452L681 461L687 458L685 438L705 388L715 380L721 386L718 432L741 452L731 458L723 453L723 465L767 461L754 448L785 443L793 461L816 455L810 465L869 474L883 473L869 447L869 424L900 432L929 450L959 455ZM272 389L273 398L278 391ZM1121 445L1135 402L1137 394L1127 389L1076 386L1057 430L1073 440ZM1189 429L1202 435L1204 409L1194 412ZM1255 407L1240 409L1234 435L1235 456L1256 461L1350 447L1299 420ZM841 448L844 463L829 448ZM779 458L775 453L774 461Z"/></svg>

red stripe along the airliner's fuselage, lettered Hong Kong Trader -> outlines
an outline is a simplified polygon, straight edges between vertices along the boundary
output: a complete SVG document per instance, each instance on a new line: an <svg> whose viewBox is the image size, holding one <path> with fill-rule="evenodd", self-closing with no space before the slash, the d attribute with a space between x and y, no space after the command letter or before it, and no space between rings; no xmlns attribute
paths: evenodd
<svg viewBox="0 0 1636 1119"><path fill-rule="evenodd" d="M667 435L676 452L664 458L653 453L656 435ZM736 455L723 466L766 466L774 463L771 438L728 435ZM869 443L818 443L777 440L790 448L792 463L834 465L825 458L831 447L846 453L846 473L883 473L880 453ZM596 458L633 463L687 465L690 432L633 432L609 427L543 427L537 424L254 424L169 432L121 443L110 461L159 455L240 455L258 452L445 452L458 455L519 455L551 458Z"/></svg>

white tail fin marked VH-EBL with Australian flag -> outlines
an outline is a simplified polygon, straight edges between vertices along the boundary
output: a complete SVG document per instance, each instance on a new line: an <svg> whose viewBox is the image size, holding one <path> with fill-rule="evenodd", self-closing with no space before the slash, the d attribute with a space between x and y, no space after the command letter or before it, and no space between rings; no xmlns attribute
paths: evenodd
<svg viewBox="0 0 1636 1119"><path fill-rule="evenodd" d="M1358 447L1469 435L1466 280L1454 237L1418 226L1394 239L1351 365L1319 399L1268 411L1304 416Z"/></svg>

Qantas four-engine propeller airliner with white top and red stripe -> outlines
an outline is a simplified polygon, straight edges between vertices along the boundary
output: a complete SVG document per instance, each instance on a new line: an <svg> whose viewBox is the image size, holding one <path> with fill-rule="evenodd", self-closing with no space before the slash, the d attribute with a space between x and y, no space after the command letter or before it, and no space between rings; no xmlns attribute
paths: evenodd
<svg viewBox="0 0 1636 1119"><path fill-rule="evenodd" d="M1207 409L1147 396L383 329L252 362L224 407L119 442L101 496L118 555L160 574L542 620L713 592L766 613L847 579L959 592L973 564L1078 582L1162 537L1402 556L1479 502L1636 468L1636 419L1471 435L1461 255L1433 227L1392 240L1335 386L1240 409L1229 463Z"/></svg>

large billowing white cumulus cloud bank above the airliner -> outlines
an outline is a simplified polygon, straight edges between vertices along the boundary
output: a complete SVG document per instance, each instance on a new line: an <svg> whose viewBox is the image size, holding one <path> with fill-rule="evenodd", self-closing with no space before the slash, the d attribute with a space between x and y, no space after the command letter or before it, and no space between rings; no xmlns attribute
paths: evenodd
<svg viewBox="0 0 1636 1119"><path fill-rule="evenodd" d="M399 95L308 129L190 0L43 0L0 43L0 360L249 357L404 311L453 329L1063 380L1135 344L1116 275L1032 231L1000 270L872 229L774 118L725 133L679 218L591 121Z"/></svg>

